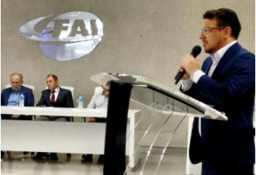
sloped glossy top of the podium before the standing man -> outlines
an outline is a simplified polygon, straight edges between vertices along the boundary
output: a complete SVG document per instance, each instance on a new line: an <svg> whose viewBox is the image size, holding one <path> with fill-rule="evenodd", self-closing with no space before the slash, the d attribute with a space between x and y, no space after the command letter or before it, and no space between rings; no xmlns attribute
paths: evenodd
<svg viewBox="0 0 256 175"><path fill-rule="evenodd" d="M124 73L97 73L96 75L91 76L90 79L93 82L96 82L97 84L105 87L109 87L111 82L117 82L120 84L132 85L136 87L146 87L156 91L157 93L161 93L164 96L168 96L171 99L182 103L183 105L188 105L188 107L191 107L194 110L197 110L198 115L194 115L195 117L228 120L228 117L224 113L211 108L209 105L206 105L197 99L193 99L192 97L181 93L180 90L174 90L167 85L163 85L160 82L155 82L154 80L147 79L143 76L128 75ZM135 99L135 101L137 100Z"/></svg>

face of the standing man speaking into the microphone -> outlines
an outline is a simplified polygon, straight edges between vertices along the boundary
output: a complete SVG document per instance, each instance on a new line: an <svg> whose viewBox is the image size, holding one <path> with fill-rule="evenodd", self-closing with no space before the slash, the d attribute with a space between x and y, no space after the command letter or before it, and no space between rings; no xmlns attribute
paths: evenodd
<svg viewBox="0 0 256 175"><path fill-rule="evenodd" d="M207 32L201 32L200 39L206 53L215 53L224 46L223 29L217 27L216 19L203 19L202 29L207 29Z"/></svg>

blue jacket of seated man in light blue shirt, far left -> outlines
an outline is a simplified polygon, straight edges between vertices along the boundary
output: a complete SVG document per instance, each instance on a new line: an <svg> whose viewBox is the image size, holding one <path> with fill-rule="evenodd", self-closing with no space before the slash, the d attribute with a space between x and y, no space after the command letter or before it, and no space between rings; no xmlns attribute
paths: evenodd
<svg viewBox="0 0 256 175"><path fill-rule="evenodd" d="M1 106L8 104L8 99L12 93L12 87L8 87L1 92ZM21 87L21 93L24 95L24 106L34 106L33 91L28 87ZM2 119L10 119L10 115L1 115ZM20 116L19 119L32 119L32 116Z"/></svg>

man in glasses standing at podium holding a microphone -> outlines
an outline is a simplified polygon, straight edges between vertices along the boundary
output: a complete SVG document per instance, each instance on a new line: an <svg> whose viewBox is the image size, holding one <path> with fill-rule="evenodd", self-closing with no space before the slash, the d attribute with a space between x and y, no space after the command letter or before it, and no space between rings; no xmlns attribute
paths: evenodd
<svg viewBox="0 0 256 175"><path fill-rule="evenodd" d="M194 164L202 162L203 175L253 174L255 55L237 42L240 30L233 10L206 11L200 39L210 56L201 68L193 56L184 56L178 68L186 71L183 93L229 118L194 119L189 156Z"/></svg>

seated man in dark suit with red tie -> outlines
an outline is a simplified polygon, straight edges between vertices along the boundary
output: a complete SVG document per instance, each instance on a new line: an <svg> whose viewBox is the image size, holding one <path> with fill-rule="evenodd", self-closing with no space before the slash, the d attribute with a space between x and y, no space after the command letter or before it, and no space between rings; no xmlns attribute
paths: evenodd
<svg viewBox="0 0 256 175"><path fill-rule="evenodd" d="M74 108L72 93L70 90L59 87L58 77L50 74L47 76L47 90L42 91L42 96L36 106L56 107L56 108ZM68 122L68 116L39 116L37 121L56 121ZM56 138L57 139L57 138ZM43 156L48 156L47 153L37 153L34 159L42 159ZM68 153L68 159L70 154ZM58 160L56 153L50 153L50 159Z"/></svg>

